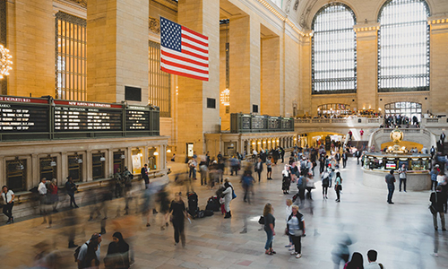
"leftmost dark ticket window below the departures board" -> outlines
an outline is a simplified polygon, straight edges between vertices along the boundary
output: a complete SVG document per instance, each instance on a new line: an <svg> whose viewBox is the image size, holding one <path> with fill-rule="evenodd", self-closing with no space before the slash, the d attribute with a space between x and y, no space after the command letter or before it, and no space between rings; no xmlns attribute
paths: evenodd
<svg viewBox="0 0 448 269"><path fill-rule="evenodd" d="M6 161L6 185L13 192L22 192L27 190L26 175L26 160Z"/></svg>

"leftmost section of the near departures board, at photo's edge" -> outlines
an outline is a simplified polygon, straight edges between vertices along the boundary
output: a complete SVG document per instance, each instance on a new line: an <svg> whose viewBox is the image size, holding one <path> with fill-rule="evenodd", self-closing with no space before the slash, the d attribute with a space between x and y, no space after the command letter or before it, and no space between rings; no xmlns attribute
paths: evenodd
<svg viewBox="0 0 448 269"><path fill-rule="evenodd" d="M49 132L47 100L0 96L0 131L9 133Z"/></svg>

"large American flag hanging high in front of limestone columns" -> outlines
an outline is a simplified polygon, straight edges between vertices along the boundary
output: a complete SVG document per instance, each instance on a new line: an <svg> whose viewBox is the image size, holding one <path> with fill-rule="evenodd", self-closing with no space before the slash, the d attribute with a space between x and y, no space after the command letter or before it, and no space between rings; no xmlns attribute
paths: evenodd
<svg viewBox="0 0 448 269"><path fill-rule="evenodd" d="M209 38L160 17L160 69L209 81Z"/></svg>

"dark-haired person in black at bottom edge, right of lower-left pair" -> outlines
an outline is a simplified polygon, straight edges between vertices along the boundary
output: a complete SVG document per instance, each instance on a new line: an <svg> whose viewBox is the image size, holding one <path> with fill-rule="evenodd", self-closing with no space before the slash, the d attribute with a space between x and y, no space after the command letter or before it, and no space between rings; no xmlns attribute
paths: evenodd
<svg viewBox="0 0 448 269"><path fill-rule="evenodd" d="M107 269L128 269L131 266L129 245L119 231L116 231L112 236L112 242L108 246L108 254L104 258L104 265Z"/></svg>

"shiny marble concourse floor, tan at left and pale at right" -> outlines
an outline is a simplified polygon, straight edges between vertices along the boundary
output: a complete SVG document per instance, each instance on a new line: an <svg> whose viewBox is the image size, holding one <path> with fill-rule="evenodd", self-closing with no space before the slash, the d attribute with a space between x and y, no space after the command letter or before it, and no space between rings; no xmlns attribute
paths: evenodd
<svg viewBox="0 0 448 269"><path fill-rule="evenodd" d="M175 166L175 165L173 165ZM352 244L350 253L378 251L378 261L388 269L446 268L448 264L448 232L435 231L432 215L427 209L430 193L395 192L395 204L386 203L387 191L364 187L362 171L356 160L349 160L347 169L341 169L343 194L335 203L335 193L329 190L329 199L322 199L322 188L316 184L313 202L307 201L301 213L305 215L306 238L302 239L302 258L290 256L284 247L288 238L285 227L285 199L291 195L281 192L280 171L273 168L274 180L256 183L252 204L243 202L243 191L238 177L230 177L237 199L230 204L231 219L219 214L186 223L186 247L174 246L173 230L160 230L161 215L151 218L151 227L145 227L141 215L116 217L116 208L123 208L121 199L108 207L107 233L101 244L101 264L106 256L112 234L121 231L133 248L132 268L337 268L332 263L332 250L341 235ZM265 175L265 174L264 174ZM201 209L214 191L194 182ZM291 190L295 187L291 187ZM170 187L171 192L181 187ZM185 190L183 190L185 194ZM291 193L295 193L292 191ZM266 203L274 206L277 236L274 239L276 255L264 255L265 233L257 223ZM185 199L186 203L186 199ZM73 210L79 220L75 225L77 244L99 231L100 221L87 221L90 206ZM53 226L41 224L42 218L16 221L0 227L0 268L29 268L34 256L42 250L56 250L64 268L76 268L73 248L67 248L67 234L73 227L65 227L68 212L56 213ZM243 219L248 217L248 232L241 234ZM435 252L438 254L435 256ZM101 268L103 266L100 266ZM340 266L342 268L342 266Z"/></svg>

